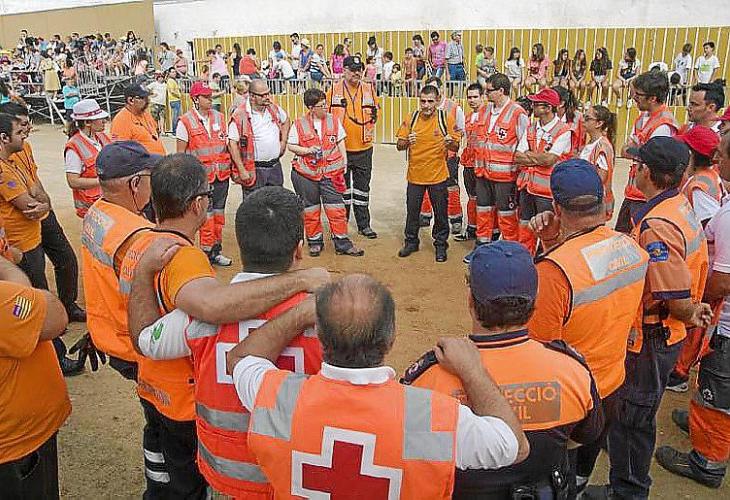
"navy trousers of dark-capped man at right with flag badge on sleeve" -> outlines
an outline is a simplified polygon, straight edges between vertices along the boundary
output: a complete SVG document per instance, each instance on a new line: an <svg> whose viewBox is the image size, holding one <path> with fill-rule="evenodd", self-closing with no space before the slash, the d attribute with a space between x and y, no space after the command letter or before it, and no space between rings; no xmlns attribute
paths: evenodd
<svg viewBox="0 0 730 500"><path fill-rule="evenodd" d="M618 498L648 498L656 414L682 342L667 345L661 327L643 326L640 353L626 354L616 419L608 431L609 481Z"/></svg>

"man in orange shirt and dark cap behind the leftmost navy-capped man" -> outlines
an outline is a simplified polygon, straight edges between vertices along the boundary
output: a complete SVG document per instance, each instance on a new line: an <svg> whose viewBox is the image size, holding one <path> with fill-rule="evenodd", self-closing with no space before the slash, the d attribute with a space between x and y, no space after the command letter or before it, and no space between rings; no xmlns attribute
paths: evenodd
<svg viewBox="0 0 730 500"><path fill-rule="evenodd" d="M112 119L111 134L113 141L137 141L147 152L165 155L165 146L160 139L157 121L147 108L150 93L139 84L128 85L124 89L125 106Z"/></svg>

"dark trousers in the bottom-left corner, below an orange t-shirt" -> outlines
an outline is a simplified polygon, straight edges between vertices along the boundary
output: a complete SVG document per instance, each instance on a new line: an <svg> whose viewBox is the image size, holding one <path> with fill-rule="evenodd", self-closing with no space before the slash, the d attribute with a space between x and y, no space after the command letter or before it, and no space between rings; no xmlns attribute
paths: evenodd
<svg viewBox="0 0 730 500"><path fill-rule="evenodd" d="M0 498L53 500L58 492L58 447L54 434L28 455L0 464Z"/></svg>

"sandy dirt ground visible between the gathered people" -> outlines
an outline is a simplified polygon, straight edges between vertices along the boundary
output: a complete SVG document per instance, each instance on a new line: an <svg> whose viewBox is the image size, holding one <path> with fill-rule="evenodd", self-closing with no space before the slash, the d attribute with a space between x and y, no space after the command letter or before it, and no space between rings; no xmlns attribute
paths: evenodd
<svg viewBox="0 0 730 500"><path fill-rule="evenodd" d="M78 249L81 221L73 211L71 192L63 173L64 138L59 127L41 125L30 140L40 166L40 176L51 195L56 214L71 244ZM172 151L172 140L166 138L166 141L168 150ZM335 256L332 246L328 245L320 258L307 257L305 265L324 266L337 274L367 272L390 287L398 307L398 339L387 361L402 373L431 348L438 337L468 333L470 321L466 308L465 266L461 259L469 252L472 243L452 241L449 260L436 264L430 234L423 230L421 251L408 259L398 258L396 252L402 243L405 219L405 156L393 146L376 146L374 164L372 226L379 238L366 240L355 236L355 243L366 251L362 258ZM619 198L617 203L621 202L626 174L627 168L623 165L614 179L615 186L619 187L614 189ZM229 221L233 220L240 201L240 190L232 188L226 209ZM225 253L234 259L234 264L227 269L219 268L219 278L228 281L240 268L231 225L226 226L224 238ZM50 263L47 271L52 280ZM85 331L83 327L71 325L65 339L67 345ZM107 366L96 373L87 371L67 379L67 383L73 413L59 434L62 496L74 499L140 497L144 485L140 449L143 419L134 385ZM680 449L689 447L687 436L678 431L670 420L672 408L686 407L687 401L687 395L672 393L664 398L659 415L658 445L670 444ZM730 498L727 482L721 490L714 492L672 476L656 465L652 475L652 496L655 498ZM607 463L602 457L592 482L605 482L606 476Z"/></svg>

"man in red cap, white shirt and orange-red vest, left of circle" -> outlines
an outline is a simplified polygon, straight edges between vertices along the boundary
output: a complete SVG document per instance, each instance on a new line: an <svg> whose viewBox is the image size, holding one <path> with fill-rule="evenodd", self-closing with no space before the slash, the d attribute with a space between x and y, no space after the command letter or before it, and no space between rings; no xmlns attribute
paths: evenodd
<svg viewBox="0 0 730 500"><path fill-rule="evenodd" d="M213 90L205 82L195 82L190 88L193 108L177 122L177 152L189 153L203 164L213 194L208 203L208 218L200 228L200 248L211 264L230 266L231 259L223 255L223 226L226 224L228 178L231 156L226 149L225 117L213 109Z"/></svg>

